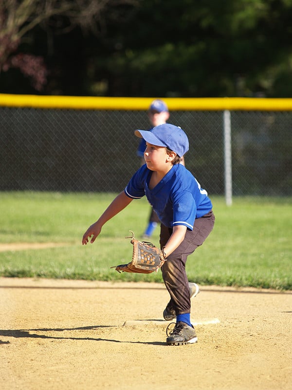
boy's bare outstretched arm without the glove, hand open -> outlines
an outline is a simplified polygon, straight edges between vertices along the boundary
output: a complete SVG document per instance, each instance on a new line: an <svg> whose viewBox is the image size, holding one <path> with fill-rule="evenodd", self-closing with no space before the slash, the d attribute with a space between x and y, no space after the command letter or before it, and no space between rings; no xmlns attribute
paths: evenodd
<svg viewBox="0 0 292 390"><path fill-rule="evenodd" d="M83 234L82 245L86 245L89 242L89 238L92 236L90 242L91 244L95 241L95 238L100 234L101 228L103 225L111 219L113 216L117 215L120 211L125 209L128 204L132 201L132 198L129 198L125 195L124 191L121 192L111 203L110 206L105 210L105 212L94 222L87 231Z"/></svg>

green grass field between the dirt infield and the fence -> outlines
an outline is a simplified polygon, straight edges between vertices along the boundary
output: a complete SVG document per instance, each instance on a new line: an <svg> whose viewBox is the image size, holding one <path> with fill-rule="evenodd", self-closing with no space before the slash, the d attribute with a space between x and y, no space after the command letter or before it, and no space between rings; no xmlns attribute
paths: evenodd
<svg viewBox="0 0 292 390"><path fill-rule="evenodd" d="M94 244L82 246L86 229L116 194L0 193L0 246L55 242L61 247L0 252L0 276L162 282L150 275L117 273L128 263L129 230L141 238L150 206L133 201L104 226ZM189 256L190 281L201 285L253 286L292 290L292 198L237 197L227 207L212 197L213 232ZM159 228L152 242L159 246Z"/></svg>

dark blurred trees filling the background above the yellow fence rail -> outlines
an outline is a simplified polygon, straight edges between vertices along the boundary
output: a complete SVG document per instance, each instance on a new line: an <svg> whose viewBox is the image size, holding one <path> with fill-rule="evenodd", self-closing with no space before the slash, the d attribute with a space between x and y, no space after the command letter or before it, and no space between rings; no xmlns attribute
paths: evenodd
<svg viewBox="0 0 292 390"><path fill-rule="evenodd" d="M0 0L0 26L22 3L26 20L0 27L0 72L38 55L44 93L292 97L292 0ZM20 87L11 72L2 91Z"/></svg>

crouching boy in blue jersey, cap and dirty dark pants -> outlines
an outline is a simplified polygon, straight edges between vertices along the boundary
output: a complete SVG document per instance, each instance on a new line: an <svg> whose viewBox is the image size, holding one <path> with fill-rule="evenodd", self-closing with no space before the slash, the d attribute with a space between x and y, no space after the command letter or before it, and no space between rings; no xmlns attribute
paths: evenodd
<svg viewBox="0 0 292 390"><path fill-rule="evenodd" d="M188 138L180 127L166 123L150 131L136 130L135 135L146 141L146 164L88 228L82 244L87 244L91 236L93 243L110 218L133 199L146 195L161 221L160 246L166 259L161 270L170 295L164 313L176 315L176 325L166 344L196 343L196 331L190 322L190 288L185 265L187 256L202 245L213 229L212 203L197 179L179 163L189 148Z"/></svg>

